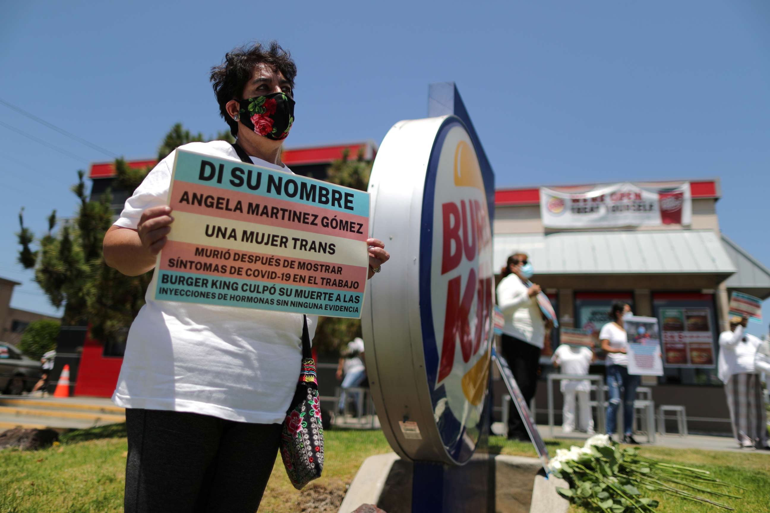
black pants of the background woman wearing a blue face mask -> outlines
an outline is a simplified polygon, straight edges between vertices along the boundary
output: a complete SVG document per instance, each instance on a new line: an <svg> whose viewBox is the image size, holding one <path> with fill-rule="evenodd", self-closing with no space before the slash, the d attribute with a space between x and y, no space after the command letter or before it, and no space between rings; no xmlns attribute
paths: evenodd
<svg viewBox="0 0 770 513"><path fill-rule="evenodd" d="M521 395L524 395L524 400L529 406L537 388L537 368L540 366L541 348L510 335L503 335L501 345L500 350L508 366L511 367L511 372L514 373ZM524 427L524 421L521 420L516 405L511 403L508 411L508 438L529 440L527 428Z"/></svg>

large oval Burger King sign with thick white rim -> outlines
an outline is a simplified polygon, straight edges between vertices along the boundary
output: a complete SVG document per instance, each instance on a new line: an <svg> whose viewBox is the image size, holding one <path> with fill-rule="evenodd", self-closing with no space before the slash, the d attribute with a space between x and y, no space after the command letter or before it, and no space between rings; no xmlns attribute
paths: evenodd
<svg viewBox="0 0 770 513"><path fill-rule="evenodd" d="M451 115L397 123L374 162L372 235L391 259L370 282L363 335L377 415L404 458L461 465L480 436L494 336L491 178Z"/></svg>

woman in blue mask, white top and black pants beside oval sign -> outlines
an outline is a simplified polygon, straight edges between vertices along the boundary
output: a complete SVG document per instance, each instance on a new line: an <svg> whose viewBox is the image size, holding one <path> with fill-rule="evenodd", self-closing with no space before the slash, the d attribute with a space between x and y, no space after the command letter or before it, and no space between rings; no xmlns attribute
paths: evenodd
<svg viewBox="0 0 770 513"><path fill-rule="evenodd" d="M505 318L500 352L511 367L527 405L537 388L537 370L546 330L537 305L541 288L531 283L533 274L527 254L516 252L508 257L507 265L500 273L503 279L497 285L497 305ZM508 423L508 438L529 440L527 428L516 408L508 411L510 415L504 419Z"/></svg>

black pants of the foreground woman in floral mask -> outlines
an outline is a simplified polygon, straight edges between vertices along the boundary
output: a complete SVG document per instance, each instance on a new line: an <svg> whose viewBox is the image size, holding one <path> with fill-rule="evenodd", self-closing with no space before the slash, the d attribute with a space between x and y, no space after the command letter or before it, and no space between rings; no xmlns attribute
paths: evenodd
<svg viewBox="0 0 770 513"><path fill-rule="evenodd" d="M280 424L126 408L126 513L254 513Z"/></svg>

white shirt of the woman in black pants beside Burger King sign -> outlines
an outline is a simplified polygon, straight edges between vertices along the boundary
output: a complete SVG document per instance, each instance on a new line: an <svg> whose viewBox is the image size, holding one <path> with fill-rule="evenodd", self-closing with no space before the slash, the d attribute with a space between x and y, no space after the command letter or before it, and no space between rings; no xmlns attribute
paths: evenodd
<svg viewBox="0 0 770 513"><path fill-rule="evenodd" d="M497 285L497 306L505 318L503 333L542 349L545 324L537 298L531 298L527 290L517 275L507 275Z"/></svg>

